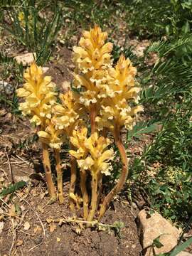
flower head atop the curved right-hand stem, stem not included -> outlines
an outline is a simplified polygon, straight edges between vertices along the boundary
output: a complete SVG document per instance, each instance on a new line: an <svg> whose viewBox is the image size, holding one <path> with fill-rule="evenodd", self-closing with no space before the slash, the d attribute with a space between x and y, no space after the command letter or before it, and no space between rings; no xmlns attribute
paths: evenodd
<svg viewBox="0 0 192 256"><path fill-rule="evenodd" d="M137 70L129 59L121 55L115 68L110 68L111 76L108 97L102 100L100 116L95 121L100 129L107 127L114 129L114 123L119 127L132 129L134 116L142 111L142 106L132 107L132 103L139 100L139 87L134 85ZM130 104L131 103L131 104Z"/></svg>

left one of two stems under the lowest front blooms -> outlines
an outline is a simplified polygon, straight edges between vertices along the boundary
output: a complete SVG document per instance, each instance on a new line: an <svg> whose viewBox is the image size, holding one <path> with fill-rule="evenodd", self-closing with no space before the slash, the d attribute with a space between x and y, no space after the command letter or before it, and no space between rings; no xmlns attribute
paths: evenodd
<svg viewBox="0 0 192 256"><path fill-rule="evenodd" d="M83 201L83 219L87 220L88 216L88 206L89 206L89 197L87 194L86 187L87 173L85 170L80 170L80 189L82 193L82 201Z"/></svg>

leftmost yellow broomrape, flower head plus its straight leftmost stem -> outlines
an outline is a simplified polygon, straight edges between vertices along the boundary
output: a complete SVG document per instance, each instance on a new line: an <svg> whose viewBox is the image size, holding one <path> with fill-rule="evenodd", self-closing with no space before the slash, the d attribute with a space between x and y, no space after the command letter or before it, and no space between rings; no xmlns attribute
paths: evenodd
<svg viewBox="0 0 192 256"><path fill-rule="evenodd" d="M55 84L49 76L43 75L43 69L35 63L23 74L25 83L23 87L17 90L18 97L24 99L19 104L19 110L23 115L31 117L30 122L40 126L41 130L46 129L46 120L51 119L51 108L55 104L57 92ZM46 182L50 199L55 200L55 186L50 169L50 159L48 153L48 144L42 142L43 148L43 166L46 173Z"/></svg>

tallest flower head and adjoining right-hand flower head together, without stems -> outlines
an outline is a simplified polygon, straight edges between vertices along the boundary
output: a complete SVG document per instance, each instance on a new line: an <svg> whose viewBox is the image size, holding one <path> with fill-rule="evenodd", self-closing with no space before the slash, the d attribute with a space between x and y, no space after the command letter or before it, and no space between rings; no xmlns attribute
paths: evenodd
<svg viewBox="0 0 192 256"><path fill-rule="evenodd" d="M141 106L133 106L139 100L134 81L137 69L124 55L112 68L112 43L105 43L106 39L107 33L95 26L85 31L80 46L73 48L75 86L81 88L80 102L85 107L90 110L90 105L95 105L97 129L112 130L114 123L132 129L135 114L142 111Z"/></svg>

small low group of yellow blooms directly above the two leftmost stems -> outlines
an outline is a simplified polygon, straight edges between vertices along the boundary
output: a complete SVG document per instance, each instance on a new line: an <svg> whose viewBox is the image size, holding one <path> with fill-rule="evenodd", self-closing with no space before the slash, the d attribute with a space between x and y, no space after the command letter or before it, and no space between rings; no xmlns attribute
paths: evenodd
<svg viewBox="0 0 192 256"><path fill-rule="evenodd" d="M45 131L39 131L38 137L42 143L49 145L53 149L60 149L65 141L63 131L55 129L55 125L49 119L46 120Z"/></svg>

